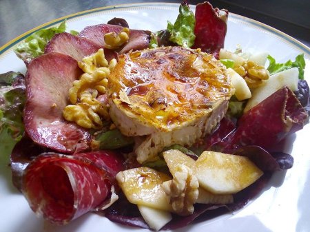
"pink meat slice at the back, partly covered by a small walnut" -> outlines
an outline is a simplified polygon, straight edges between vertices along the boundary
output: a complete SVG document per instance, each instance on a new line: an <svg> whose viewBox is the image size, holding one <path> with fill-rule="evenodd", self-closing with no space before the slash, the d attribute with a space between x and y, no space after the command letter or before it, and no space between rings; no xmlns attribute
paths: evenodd
<svg viewBox="0 0 310 232"><path fill-rule="evenodd" d="M120 25L110 25L110 24L98 24L92 25L84 28L79 36L90 39L97 45L104 47L105 41L103 39L106 33L121 32L123 27ZM127 53L130 50L143 50L149 48L149 34L143 30L132 30L130 29L129 41L121 48L119 53Z"/></svg>

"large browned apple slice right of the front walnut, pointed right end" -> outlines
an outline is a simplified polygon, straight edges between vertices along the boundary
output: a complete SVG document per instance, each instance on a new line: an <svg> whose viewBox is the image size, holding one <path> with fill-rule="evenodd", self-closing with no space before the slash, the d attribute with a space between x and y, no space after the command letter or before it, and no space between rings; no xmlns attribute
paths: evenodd
<svg viewBox="0 0 310 232"><path fill-rule="evenodd" d="M262 171L243 156L204 151L196 160L199 186L215 194L233 194L254 183Z"/></svg>

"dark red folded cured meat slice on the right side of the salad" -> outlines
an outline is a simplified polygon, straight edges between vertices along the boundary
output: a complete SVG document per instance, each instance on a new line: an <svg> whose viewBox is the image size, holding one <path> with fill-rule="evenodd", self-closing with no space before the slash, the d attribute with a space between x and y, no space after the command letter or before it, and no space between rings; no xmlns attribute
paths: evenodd
<svg viewBox="0 0 310 232"><path fill-rule="evenodd" d="M220 146L224 152L257 145L269 149L302 127L309 120L307 112L289 87L282 87L250 109L238 121L236 129Z"/></svg>

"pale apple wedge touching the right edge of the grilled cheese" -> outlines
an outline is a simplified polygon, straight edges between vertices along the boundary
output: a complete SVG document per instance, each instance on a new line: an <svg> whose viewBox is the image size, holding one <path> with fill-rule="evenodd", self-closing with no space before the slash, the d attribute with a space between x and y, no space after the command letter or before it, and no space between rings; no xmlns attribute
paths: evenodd
<svg viewBox="0 0 310 232"><path fill-rule="evenodd" d="M242 78L235 70L232 68L227 69L227 73L231 77L231 84L234 86L235 90L235 96L238 99L238 101L242 101L248 98L251 98L251 90L247 86L247 83L245 82L245 79Z"/></svg>

